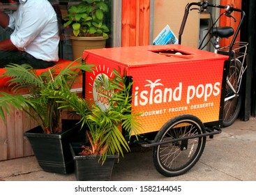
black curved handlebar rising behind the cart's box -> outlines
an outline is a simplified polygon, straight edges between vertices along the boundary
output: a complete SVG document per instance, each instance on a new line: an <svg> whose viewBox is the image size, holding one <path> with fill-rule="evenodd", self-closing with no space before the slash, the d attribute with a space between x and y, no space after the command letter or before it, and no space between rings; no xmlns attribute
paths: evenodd
<svg viewBox="0 0 256 195"><path fill-rule="evenodd" d="M243 23L243 20L244 20L244 18L246 16L246 13L243 10L241 10L239 8L234 8L234 7L230 6L230 5L222 6L222 5L218 5L218 4L211 4L211 3L208 3L206 1L188 3L188 5L185 8L185 13L184 13L184 16L183 16L183 20L181 22L181 28L179 29L179 44L181 44L181 36L183 34L183 30L185 28L186 21L188 19L188 13L190 11L191 6L198 6L200 11L205 10L207 7L225 9L225 13L227 13L227 16L229 16L234 11L241 13L241 21L239 22L239 26L237 27L236 32L234 33L234 37L232 39L232 42L230 43L229 52L231 53L232 52L232 47L234 45L236 37L239 34L239 31L241 29L241 24Z"/></svg>

